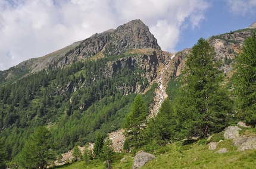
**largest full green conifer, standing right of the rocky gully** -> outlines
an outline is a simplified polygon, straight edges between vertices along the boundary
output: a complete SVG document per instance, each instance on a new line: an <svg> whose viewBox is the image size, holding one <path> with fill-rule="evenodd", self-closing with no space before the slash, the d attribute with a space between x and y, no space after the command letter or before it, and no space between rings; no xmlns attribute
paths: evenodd
<svg viewBox="0 0 256 169"><path fill-rule="evenodd" d="M221 86L220 62L214 60L213 47L199 39L187 57L181 78L180 97L176 104L180 136L207 137L225 127L231 102Z"/></svg>

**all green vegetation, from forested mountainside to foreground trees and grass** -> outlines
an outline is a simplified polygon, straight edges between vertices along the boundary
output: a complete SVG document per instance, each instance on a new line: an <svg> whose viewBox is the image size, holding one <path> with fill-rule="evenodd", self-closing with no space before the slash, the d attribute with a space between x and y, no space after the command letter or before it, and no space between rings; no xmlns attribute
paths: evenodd
<svg viewBox="0 0 256 169"><path fill-rule="evenodd" d="M229 152L222 155L209 151L205 144L213 133L211 141L223 139L221 131L230 119L246 120L255 127L255 48L253 34L236 58L235 78L230 82L235 89L227 90L214 49L199 39L186 58L182 75L168 82L168 98L157 116L149 119L146 116L158 84L143 95L135 94L138 85L141 90L149 88L144 70L137 63L113 64L138 56L141 50L87 59L63 69L50 65L49 71L15 82L1 76L6 85L0 87L0 168L131 168L132 157L141 149L157 155L143 168L250 168L255 165L254 151L236 152L231 141L225 140L218 148ZM225 58L225 63L230 62ZM235 98L237 107L230 98ZM120 127L126 135L124 152L114 153L112 141L104 138ZM242 132L255 135L255 129ZM191 140L193 136L198 140ZM95 143L93 153L88 142ZM78 146L84 145L82 155ZM52 165L52 160L58 156L61 161L61 153L71 149L74 159L61 167ZM124 156L126 160L120 162Z"/></svg>

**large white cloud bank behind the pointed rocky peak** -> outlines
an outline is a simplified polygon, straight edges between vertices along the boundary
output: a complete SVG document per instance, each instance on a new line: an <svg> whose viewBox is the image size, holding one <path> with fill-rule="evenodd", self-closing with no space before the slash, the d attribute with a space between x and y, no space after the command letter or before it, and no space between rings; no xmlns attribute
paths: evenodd
<svg viewBox="0 0 256 169"><path fill-rule="evenodd" d="M134 19L174 52L182 30L199 27L208 7L206 0L0 1L0 70Z"/></svg>

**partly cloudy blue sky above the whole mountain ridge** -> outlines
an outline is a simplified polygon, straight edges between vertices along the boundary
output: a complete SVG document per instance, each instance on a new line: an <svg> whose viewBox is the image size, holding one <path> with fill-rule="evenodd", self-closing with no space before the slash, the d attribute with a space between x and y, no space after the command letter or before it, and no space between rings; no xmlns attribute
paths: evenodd
<svg viewBox="0 0 256 169"><path fill-rule="evenodd" d="M256 0L0 0L0 71L135 19L173 53L249 27Z"/></svg>

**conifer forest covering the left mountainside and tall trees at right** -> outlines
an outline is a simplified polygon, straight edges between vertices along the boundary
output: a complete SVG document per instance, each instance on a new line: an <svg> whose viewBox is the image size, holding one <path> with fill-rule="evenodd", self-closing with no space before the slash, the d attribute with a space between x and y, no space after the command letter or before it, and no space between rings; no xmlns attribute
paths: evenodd
<svg viewBox="0 0 256 169"><path fill-rule="evenodd" d="M245 40L236 57L232 89L223 83L221 62L214 49L199 39L186 60L179 81L171 79L160 111L146 120L153 101L152 84L145 94L124 95L124 87L148 87L141 69L120 68L104 76L111 58L85 60L63 69L39 71L0 87L1 146L5 161L15 161L35 129L47 126L55 155L76 144L95 141L96 133L123 127L126 150L146 145L164 146L183 138L207 137L237 120L256 124L256 37ZM113 57L114 58L114 57ZM112 59L113 59L112 58ZM3 148L3 149L4 149ZM4 151L4 150L1 151ZM22 151L24 152L24 151ZM1 154L1 153L0 153ZM33 167L32 167L33 168Z"/></svg>

